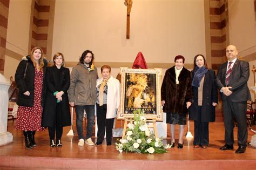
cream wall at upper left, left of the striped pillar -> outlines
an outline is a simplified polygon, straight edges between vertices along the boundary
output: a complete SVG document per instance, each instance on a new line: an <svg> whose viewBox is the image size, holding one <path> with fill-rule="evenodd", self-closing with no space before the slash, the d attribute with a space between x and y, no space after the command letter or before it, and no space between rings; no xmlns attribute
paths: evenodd
<svg viewBox="0 0 256 170"><path fill-rule="evenodd" d="M6 49L28 55L31 0L10 0ZM5 55L4 77L14 77L19 60Z"/></svg>

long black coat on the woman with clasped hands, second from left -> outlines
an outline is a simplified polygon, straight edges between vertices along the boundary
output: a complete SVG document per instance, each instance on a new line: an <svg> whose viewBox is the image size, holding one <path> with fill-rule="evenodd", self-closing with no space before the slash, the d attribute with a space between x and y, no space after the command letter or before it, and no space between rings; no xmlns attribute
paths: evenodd
<svg viewBox="0 0 256 170"><path fill-rule="evenodd" d="M44 111L42 115L42 126L43 127L53 127L55 124L55 119L58 119L59 125L70 126L71 117L69 109L69 98L68 98L68 89L70 85L70 74L69 69L65 67L60 67L59 81L57 74L58 69L56 66L48 67L46 71L46 97ZM53 96L53 93L56 91L63 91L62 101L57 103L57 98ZM58 105L58 106L57 106ZM57 116L57 107L60 108L60 117Z"/></svg>

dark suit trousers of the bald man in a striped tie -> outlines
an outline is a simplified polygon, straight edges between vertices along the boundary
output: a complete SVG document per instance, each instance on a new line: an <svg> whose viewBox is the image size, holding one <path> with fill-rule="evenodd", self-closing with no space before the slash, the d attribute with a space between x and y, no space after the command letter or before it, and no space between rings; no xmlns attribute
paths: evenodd
<svg viewBox="0 0 256 170"><path fill-rule="evenodd" d="M230 98L223 100L225 142L227 145L234 144L234 118L238 124L238 145L246 147L248 138L246 122L246 101L233 102Z"/></svg>

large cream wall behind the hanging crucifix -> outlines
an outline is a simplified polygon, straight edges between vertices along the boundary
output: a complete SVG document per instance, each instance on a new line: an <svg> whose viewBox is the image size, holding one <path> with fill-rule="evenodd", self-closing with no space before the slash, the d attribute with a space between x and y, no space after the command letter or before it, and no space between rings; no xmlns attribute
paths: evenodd
<svg viewBox="0 0 256 170"><path fill-rule="evenodd" d="M96 62L133 62L139 51L149 63L173 63L180 54L193 63L205 55L203 0L133 1L130 39L123 2L56 0L52 53L63 52L67 62L86 49Z"/></svg>

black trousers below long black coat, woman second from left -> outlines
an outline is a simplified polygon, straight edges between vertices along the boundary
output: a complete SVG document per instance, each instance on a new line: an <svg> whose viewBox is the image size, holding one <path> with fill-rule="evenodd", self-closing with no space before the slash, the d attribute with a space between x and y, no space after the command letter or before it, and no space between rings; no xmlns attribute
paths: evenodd
<svg viewBox="0 0 256 170"><path fill-rule="evenodd" d="M60 104L57 103L54 124L52 127L48 127L50 140L55 139L55 132L56 132L56 140L60 140L62 138L63 127L60 125L60 114L61 114Z"/></svg>

